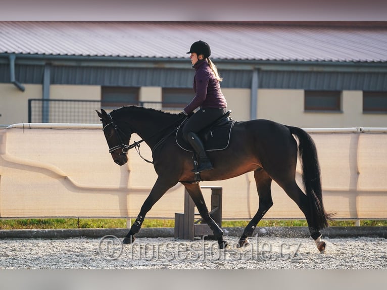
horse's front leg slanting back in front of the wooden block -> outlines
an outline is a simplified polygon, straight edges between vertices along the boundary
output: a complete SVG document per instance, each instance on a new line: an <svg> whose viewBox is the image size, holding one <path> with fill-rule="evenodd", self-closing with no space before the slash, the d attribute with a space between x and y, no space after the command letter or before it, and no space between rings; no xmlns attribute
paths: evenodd
<svg viewBox="0 0 387 290"><path fill-rule="evenodd" d="M183 183L185 188L188 191L189 196L192 201L195 203L201 217L205 220L208 226L214 233L214 236L218 240L219 248L224 249L228 246L227 241L223 240L223 230L219 227L219 225L211 218L206 203L204 201L204 197L202 194L202 190L200 189L199 183Z"/></svg>

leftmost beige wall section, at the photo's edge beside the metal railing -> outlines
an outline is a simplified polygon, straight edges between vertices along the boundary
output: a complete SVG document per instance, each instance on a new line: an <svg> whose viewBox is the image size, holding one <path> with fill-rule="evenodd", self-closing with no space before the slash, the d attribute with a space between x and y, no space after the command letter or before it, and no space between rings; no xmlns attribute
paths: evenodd
<svg viewBox="0 0 387 290"><path fill-rule="evenodd" d="M15 85L0 83L0 124L11 125L28 122L28 99L40 99L42 86L39 84L23 84L25 91Z"/></svg>

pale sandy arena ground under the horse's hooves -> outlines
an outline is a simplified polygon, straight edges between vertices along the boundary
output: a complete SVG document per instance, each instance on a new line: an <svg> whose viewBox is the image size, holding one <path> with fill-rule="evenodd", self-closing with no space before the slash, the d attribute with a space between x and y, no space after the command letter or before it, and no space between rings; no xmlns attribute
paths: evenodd
<svg viewBox="0 0 387 290"><path fill-rule="evenodd" d="M311 238L252 237L236 249L212 240L137 238L2 239L0 269L387 269L387 239L324 238L320 254Z"/></svg>

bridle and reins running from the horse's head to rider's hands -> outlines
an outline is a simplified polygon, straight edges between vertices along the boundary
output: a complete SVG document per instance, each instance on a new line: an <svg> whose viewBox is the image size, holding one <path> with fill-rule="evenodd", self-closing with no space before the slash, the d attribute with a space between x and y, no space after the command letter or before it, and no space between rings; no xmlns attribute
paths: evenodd
<svg viewBox="0 0 387 290"><path fill-rule="evenodd" d="M107 126L112 125L113 128L114 128L114 130L115 130L115 132L116 132L116 134L117 134L118 140L121 142L121 145L117 145L117 146L114 146L114 147L112 147L112 148L109 148L109 153L113 153L113 152L116 151L117 149L121 149L121 150L122 150L122 153L127 154L128 151L129 151L130 149L135 148L135 150L136 150L136 152L138 153L138 155L139 155L144 161L146 161L146 162L148 162L148 163L151 163L151 164L154 164L153 161L149 161L149 160L147 160L146 158L142 157L142 155L141 155L141 153L140 153L140 143L143 142L144 139L141 139L141 140L139 140L138 142L137 142L137 141L133 141L133 143L132 143L131 145L125 144L125 143L123 142L122 138L121 138L120 131L121 131L124 135L126 135L126 134L124 133L124 131L122 131L122 130L117 126L117 124L114 122L114 120L113 120L112 116L110 115L110 113L108 114L108 116L110 117L111 122L110 122L109 124L106 124L106 125L102 128L102 130L104 131L105 128L106 128ZM178 130L178 129L180 128L180 126L181 126L186 120L187 120L187 117L185 117L184 120L180 123L180 125L177 126L173 131L171 131L171 132L168 133L166 136L164 136L163 138L161 138L161 140L160 140L159 142L157 142L156 145L154 146L154 148L152 149L152 153L154 152L154 150L155 150L157 147L159 147L159 146L167 139L167 137L169 137L171 134L173 134L173 132L175 132L176 130ZM171 125L168 125L167 127L165 127L164 129L158 131L157 133L160 133L160 132L165 131L166 129L168 129L168 128L172 127L173 125L175 125L177 122L180 122L180 120L178 120L178 121L172 123ZM133 130L130 129L130 131L131 131L131 132L130 132L130 135L131 135L131 134L133 133ZM155 136L155 135L156 135L156 133L153 134L153 135L151 135L149 138L151 138L151 137L153 137L153 136ZM130 140L130 138L129 138L129 140Z"/></svg>

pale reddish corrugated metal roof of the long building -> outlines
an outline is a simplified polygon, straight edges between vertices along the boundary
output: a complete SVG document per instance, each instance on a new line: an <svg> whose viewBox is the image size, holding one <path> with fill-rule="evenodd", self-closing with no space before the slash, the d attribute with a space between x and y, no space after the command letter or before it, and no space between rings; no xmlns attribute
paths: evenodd
<svg viewBox="0 0 387 290"><path fill-rule="evenodd" d="M386 62L387 24L0 21L0 53L187 58L207 41L225 60Z"/></svg>

